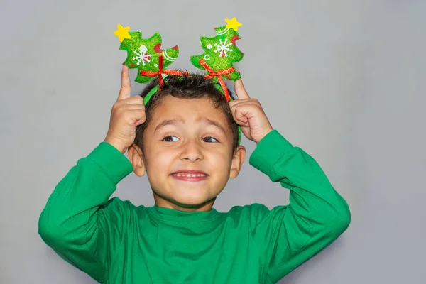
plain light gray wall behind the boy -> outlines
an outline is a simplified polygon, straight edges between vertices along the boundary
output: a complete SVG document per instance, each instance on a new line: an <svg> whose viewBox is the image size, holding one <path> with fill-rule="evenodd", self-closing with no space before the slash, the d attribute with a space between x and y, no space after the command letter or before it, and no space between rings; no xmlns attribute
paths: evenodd
<svg viewBox="0 0 426 284"><path fill-rule="evenodd" d="M180 45L172 66L195 71L200 35L233 16L249 94L351 207L342 237L282 283L425 283L425 1L0 3L1 284L94 283L37 226L55 185L107 133L126 58L117 23L160 32L163 48ZM217 209L286 204L288 190L247 162ZM121 199L153 204L146 177L118 187Z"/></svg>

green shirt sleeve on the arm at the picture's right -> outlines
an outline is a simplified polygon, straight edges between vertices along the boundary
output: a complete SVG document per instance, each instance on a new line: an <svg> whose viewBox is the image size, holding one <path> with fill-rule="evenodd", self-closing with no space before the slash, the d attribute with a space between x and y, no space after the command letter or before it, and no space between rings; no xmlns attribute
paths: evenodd
<svg viewBox="0 0 426 284"><path fill-rule="evenodd" d="M256 204L251 217L253 237L275 283L332 244L351 214L320 165L276 130L259 141L250 164L290 190L288 205L269 210Z"/></svg>

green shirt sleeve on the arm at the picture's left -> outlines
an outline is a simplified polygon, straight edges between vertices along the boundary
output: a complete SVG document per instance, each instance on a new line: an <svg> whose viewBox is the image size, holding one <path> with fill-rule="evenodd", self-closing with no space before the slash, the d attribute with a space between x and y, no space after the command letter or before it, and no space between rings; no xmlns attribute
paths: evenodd
<svg viewBox="0 0 426 284"><path fill-rule="evenodd" d="M131 206L108 199L131 171L129 160L102 142L58 183L40 214L38 233L43 241L100 283L107 279Z"/></svg>

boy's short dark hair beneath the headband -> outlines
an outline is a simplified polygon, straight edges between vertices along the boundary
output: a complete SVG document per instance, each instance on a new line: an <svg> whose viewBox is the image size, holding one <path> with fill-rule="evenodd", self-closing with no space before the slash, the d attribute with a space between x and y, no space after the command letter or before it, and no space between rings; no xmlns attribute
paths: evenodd
<svg viewBox="0 0 426 284"><path fill-rule="evenodd" d="M146 97L148 92L150 92L151 89L153 89L158 84L158 78L155 77L153 80L151 80L151 82L148 83L145 89L143 89L141 97ZM224 94L222 94L222 92L217 89L217 85L215 86L215 84L216 83L214 81L211 79L206 79L204 78L204 75L200 74L190 74L179 77L168 75L168 77L165 78L164 86L160 88L157 93L153 94L153 97L151 97L148 104L145 106L146 121L136 127L135 144L143 151L143 133L152 119L155 107L161 103L164 97L173 96L179 99L209 98L217 109L220 109L224 112L226 119L228 119L234 138L232 143L232 150L235 151L236 147L238 146L238 124L236 124L234 121L231 108L229 107L229 102L226 102ZM228 92L229 96L234 99L229 89Z"/></svg>

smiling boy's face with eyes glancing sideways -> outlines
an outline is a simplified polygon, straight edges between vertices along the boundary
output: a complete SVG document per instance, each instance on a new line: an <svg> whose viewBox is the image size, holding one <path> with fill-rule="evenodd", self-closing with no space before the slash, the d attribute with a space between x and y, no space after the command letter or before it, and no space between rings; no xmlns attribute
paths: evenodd
<svg viewBox="0 0 426 284"><path fill-rule="evenodd" d="M163 98L143 134L142 167L155 204L211 209L214 198L229 178L238 175L244 161L245 148L239 146L234 153L232 144L229 122L209 98Z"/></svg>

